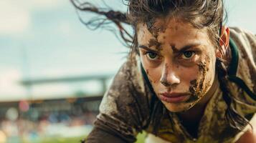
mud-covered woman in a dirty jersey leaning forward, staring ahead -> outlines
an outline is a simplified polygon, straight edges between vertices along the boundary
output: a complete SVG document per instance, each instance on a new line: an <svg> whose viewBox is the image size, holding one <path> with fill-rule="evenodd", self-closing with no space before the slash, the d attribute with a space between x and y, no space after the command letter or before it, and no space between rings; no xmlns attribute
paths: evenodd
<svg viewBox="0 0 256 143"><path fill-rule="evenodd" d="M130 0L132 50L87 142L256 142L256 37L223 15L222 0Z"/></svg>

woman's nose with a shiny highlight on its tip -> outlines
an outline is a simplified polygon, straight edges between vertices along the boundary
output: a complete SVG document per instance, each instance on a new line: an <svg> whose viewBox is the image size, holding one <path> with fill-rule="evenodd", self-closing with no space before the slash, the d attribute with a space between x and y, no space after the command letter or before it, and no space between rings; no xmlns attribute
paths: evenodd
<svg viewBox="0 0 256 143"><path fill-rule="evenodd" d="M176 70L173 67L174 66L170 66L169 64L165 64L165 66L163 67L160 82L165 87L174 86L180 83L180 79L177 76Z"/></svg>

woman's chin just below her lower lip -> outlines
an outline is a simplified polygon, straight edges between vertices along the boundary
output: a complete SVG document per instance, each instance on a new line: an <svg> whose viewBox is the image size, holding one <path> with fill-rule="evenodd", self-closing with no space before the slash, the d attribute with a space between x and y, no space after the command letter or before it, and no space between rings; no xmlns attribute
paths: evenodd
<svg viewBox="0 0 256 143"><path fill-rule="evenodd" d="M169 112L186 112L188 109L191 109L191 104L189 103L168 103L163 102L163 105L166 107L166 109L169 110Z"/></svg>

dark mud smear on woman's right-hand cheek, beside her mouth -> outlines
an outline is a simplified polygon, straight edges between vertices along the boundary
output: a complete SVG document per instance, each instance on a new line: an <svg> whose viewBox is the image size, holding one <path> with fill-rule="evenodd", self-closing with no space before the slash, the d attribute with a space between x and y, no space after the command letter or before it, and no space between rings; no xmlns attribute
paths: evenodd
<svg viewBox="0 0 256 143"><path fill-rule="evenodd" d="M189 87L189 91L191 92L193 98L189 99L189 101L187 102L191 102L193 100L195 101L202 98L202 96L204 96L206 90L210 86L209 83L204 84L205 76L207 74L207 71L209 71L209 68L207 66L209 64L209 60L209 57L207 57L204 62L199 61L198 67L199 72L201 73L201 77L199 79L194 79L190 82L191 85Z"/></svg>

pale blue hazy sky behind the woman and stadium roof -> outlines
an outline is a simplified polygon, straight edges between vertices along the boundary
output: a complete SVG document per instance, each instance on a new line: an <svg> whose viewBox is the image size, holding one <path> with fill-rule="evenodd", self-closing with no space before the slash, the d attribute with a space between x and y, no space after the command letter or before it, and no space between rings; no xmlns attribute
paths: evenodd
<svg viewBox="0 0 256 143"><path fill-rule="evenodd" d="M110 1L110 0L108 0ZM93 1L100 4L100 0ZM121 1L111 1L125 11ZM256 33L256 1L226 1L229 26ZM89 15L83 14L85 19ZM47 77L115 74L128 52L109 31L90 31L68 0L0 1L0 100L24 99L19 81ZM98 91L97 84L54 84L33 88L33 96Z"/></svg>

